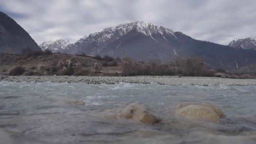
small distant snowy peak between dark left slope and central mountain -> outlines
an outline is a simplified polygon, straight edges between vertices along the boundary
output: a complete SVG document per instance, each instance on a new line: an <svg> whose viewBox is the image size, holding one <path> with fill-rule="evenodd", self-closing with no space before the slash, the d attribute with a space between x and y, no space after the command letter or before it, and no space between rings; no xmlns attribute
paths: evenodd
<svg viewBox="0 0 256 144"><path fill-rule="evenodd" d="M66 39L58 39L55 42L48 41L43 42L39 47L44 51L46 49L51 50L52 52L63 52L64 49L69 45L70 42Z"/></svg>

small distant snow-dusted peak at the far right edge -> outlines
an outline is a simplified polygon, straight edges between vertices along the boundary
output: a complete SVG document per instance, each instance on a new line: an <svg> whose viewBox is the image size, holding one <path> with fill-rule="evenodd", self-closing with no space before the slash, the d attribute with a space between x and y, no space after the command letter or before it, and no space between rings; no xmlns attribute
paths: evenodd
<svg viewBox="0 0 256 144"><path fill-rule="evenodd" d="M242 49L256 50L256 40L248 37L244 39L236 39L229 43L229 46Z"/></svg>

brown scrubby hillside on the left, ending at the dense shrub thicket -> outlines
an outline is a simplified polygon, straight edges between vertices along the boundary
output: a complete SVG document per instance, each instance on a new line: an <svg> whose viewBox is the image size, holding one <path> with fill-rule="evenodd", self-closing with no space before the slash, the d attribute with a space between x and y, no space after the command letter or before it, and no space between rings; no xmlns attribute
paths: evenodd
<svg viewBox="0 0 256 144"><path fill-rule="evenodd" d="M101 67L102 61L87 56L67 54L0 54L2 75L115 75L117 66ZM19 69L17 69L19 68ZM13 72L12 72L13 71Z"/></svg>

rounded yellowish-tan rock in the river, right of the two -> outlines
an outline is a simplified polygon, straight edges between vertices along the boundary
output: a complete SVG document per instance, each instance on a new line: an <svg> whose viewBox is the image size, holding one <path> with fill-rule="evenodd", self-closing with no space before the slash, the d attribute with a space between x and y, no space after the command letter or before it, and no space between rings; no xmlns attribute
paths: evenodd
<svg viewBox="0 0 256 144"><path fill-rule="evenodd" d="M219 119L226 117L217 107L209 104L179 104L175 116L191 120L219 122Z"/></svg>

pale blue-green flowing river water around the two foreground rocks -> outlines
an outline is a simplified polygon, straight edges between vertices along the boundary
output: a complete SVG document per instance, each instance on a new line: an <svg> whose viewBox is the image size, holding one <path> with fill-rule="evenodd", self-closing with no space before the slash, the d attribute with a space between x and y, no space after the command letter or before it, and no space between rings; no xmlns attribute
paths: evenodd
<svg viewBox="0 0 256 144"><path fill-rule="evenodd" d="M101 117L142 102L155 125ZM174 117L183 102L209 103L220 123ZM256 86L0 82L0 144L256 144ZM3 141L5 141L3 143Z"/></svg>

